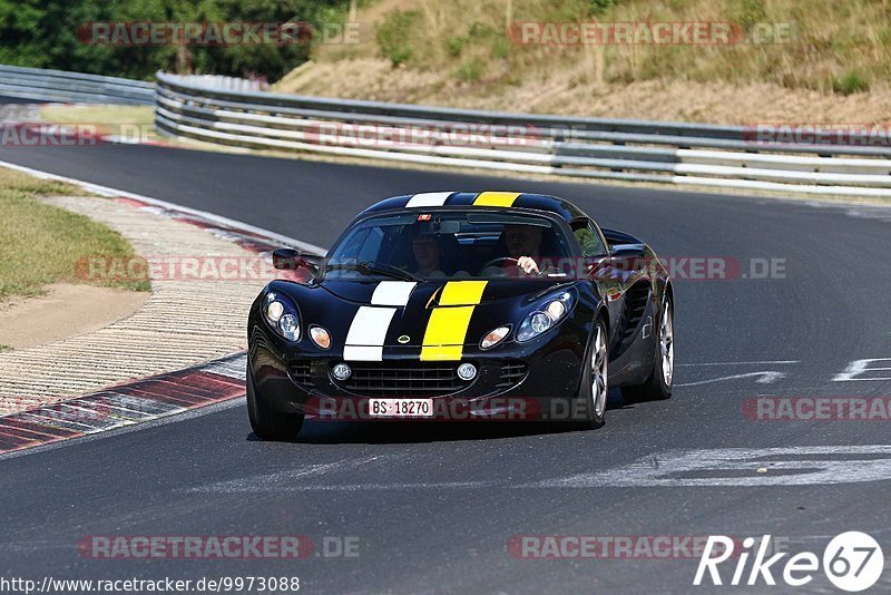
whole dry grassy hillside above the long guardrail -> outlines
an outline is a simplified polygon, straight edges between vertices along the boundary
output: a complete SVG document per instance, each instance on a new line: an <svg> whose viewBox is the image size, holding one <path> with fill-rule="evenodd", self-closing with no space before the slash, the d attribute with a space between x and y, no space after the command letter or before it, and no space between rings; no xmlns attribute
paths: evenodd
<svg viewBox="0 0 891 595"><path fill-rule="evenodd" d="M320 45L275 89L728 124L891 120L888 0L380 0L356 20L359 43ZM571 43L555 29L593 21L631 23L638 42ZM540 35L521 42L519 22ZM704 22L728 23L730 42L640 37Z"/></svg>

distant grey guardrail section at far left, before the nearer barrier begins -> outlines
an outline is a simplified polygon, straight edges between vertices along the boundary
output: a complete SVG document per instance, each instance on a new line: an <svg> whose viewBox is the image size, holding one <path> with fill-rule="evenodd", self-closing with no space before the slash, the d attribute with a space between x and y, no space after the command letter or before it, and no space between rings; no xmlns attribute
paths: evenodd
<svg viewBox="0 0 891 595"><path fill-rule="evenodd" d="M39 101L151 105L155 85L63 70L0 65L0 95Z"/></svg>

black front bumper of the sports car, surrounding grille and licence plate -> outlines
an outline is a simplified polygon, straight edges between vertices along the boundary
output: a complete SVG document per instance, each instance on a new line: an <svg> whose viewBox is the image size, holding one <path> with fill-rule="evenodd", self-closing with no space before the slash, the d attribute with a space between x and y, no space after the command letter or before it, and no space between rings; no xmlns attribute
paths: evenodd
<svg viewBox="0 0 891 595"><path fill-rule="evenodd" d="M354 374L342 382L331 373L341 351L288 344L260 323L251 329L248 367L257 398L283 412L366 419L371 398L430 398L434 418L541 419L550 401L575 400L586 342L587 329L567 320L528 343L464 345L460 361L424 362L417 350L391 347L381 362L347 361ZM477 367L471 381L449 372L463 362Z"/></svg>

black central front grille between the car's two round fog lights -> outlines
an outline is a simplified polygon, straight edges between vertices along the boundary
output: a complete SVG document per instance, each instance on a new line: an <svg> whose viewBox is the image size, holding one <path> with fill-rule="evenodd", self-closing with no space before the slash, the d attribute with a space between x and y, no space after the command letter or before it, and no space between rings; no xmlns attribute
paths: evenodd
<svg viewBox="0 0 891 595"><path fill-rule="evenodd" d="M458 378L457 363L356 362L350 367L353 373L341 384L360 394L435 397L458 392L472 383Z"/></svg>

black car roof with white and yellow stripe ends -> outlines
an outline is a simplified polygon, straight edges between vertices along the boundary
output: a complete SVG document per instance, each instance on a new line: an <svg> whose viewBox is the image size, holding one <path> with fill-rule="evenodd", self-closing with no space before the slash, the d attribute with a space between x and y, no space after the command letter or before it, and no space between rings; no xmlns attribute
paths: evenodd
<svg viewBox="0 0 891 595"><path fill-rule="evenodd" d="M404 208L439 208L454 206L484 206L490 208L523 208L552 213L567 222L579 217L588 217L584 211L565 198L547 194L517 192L428 192L422 194L403 194L384 198L361 213L370 215L381 211Z"/></svg>

